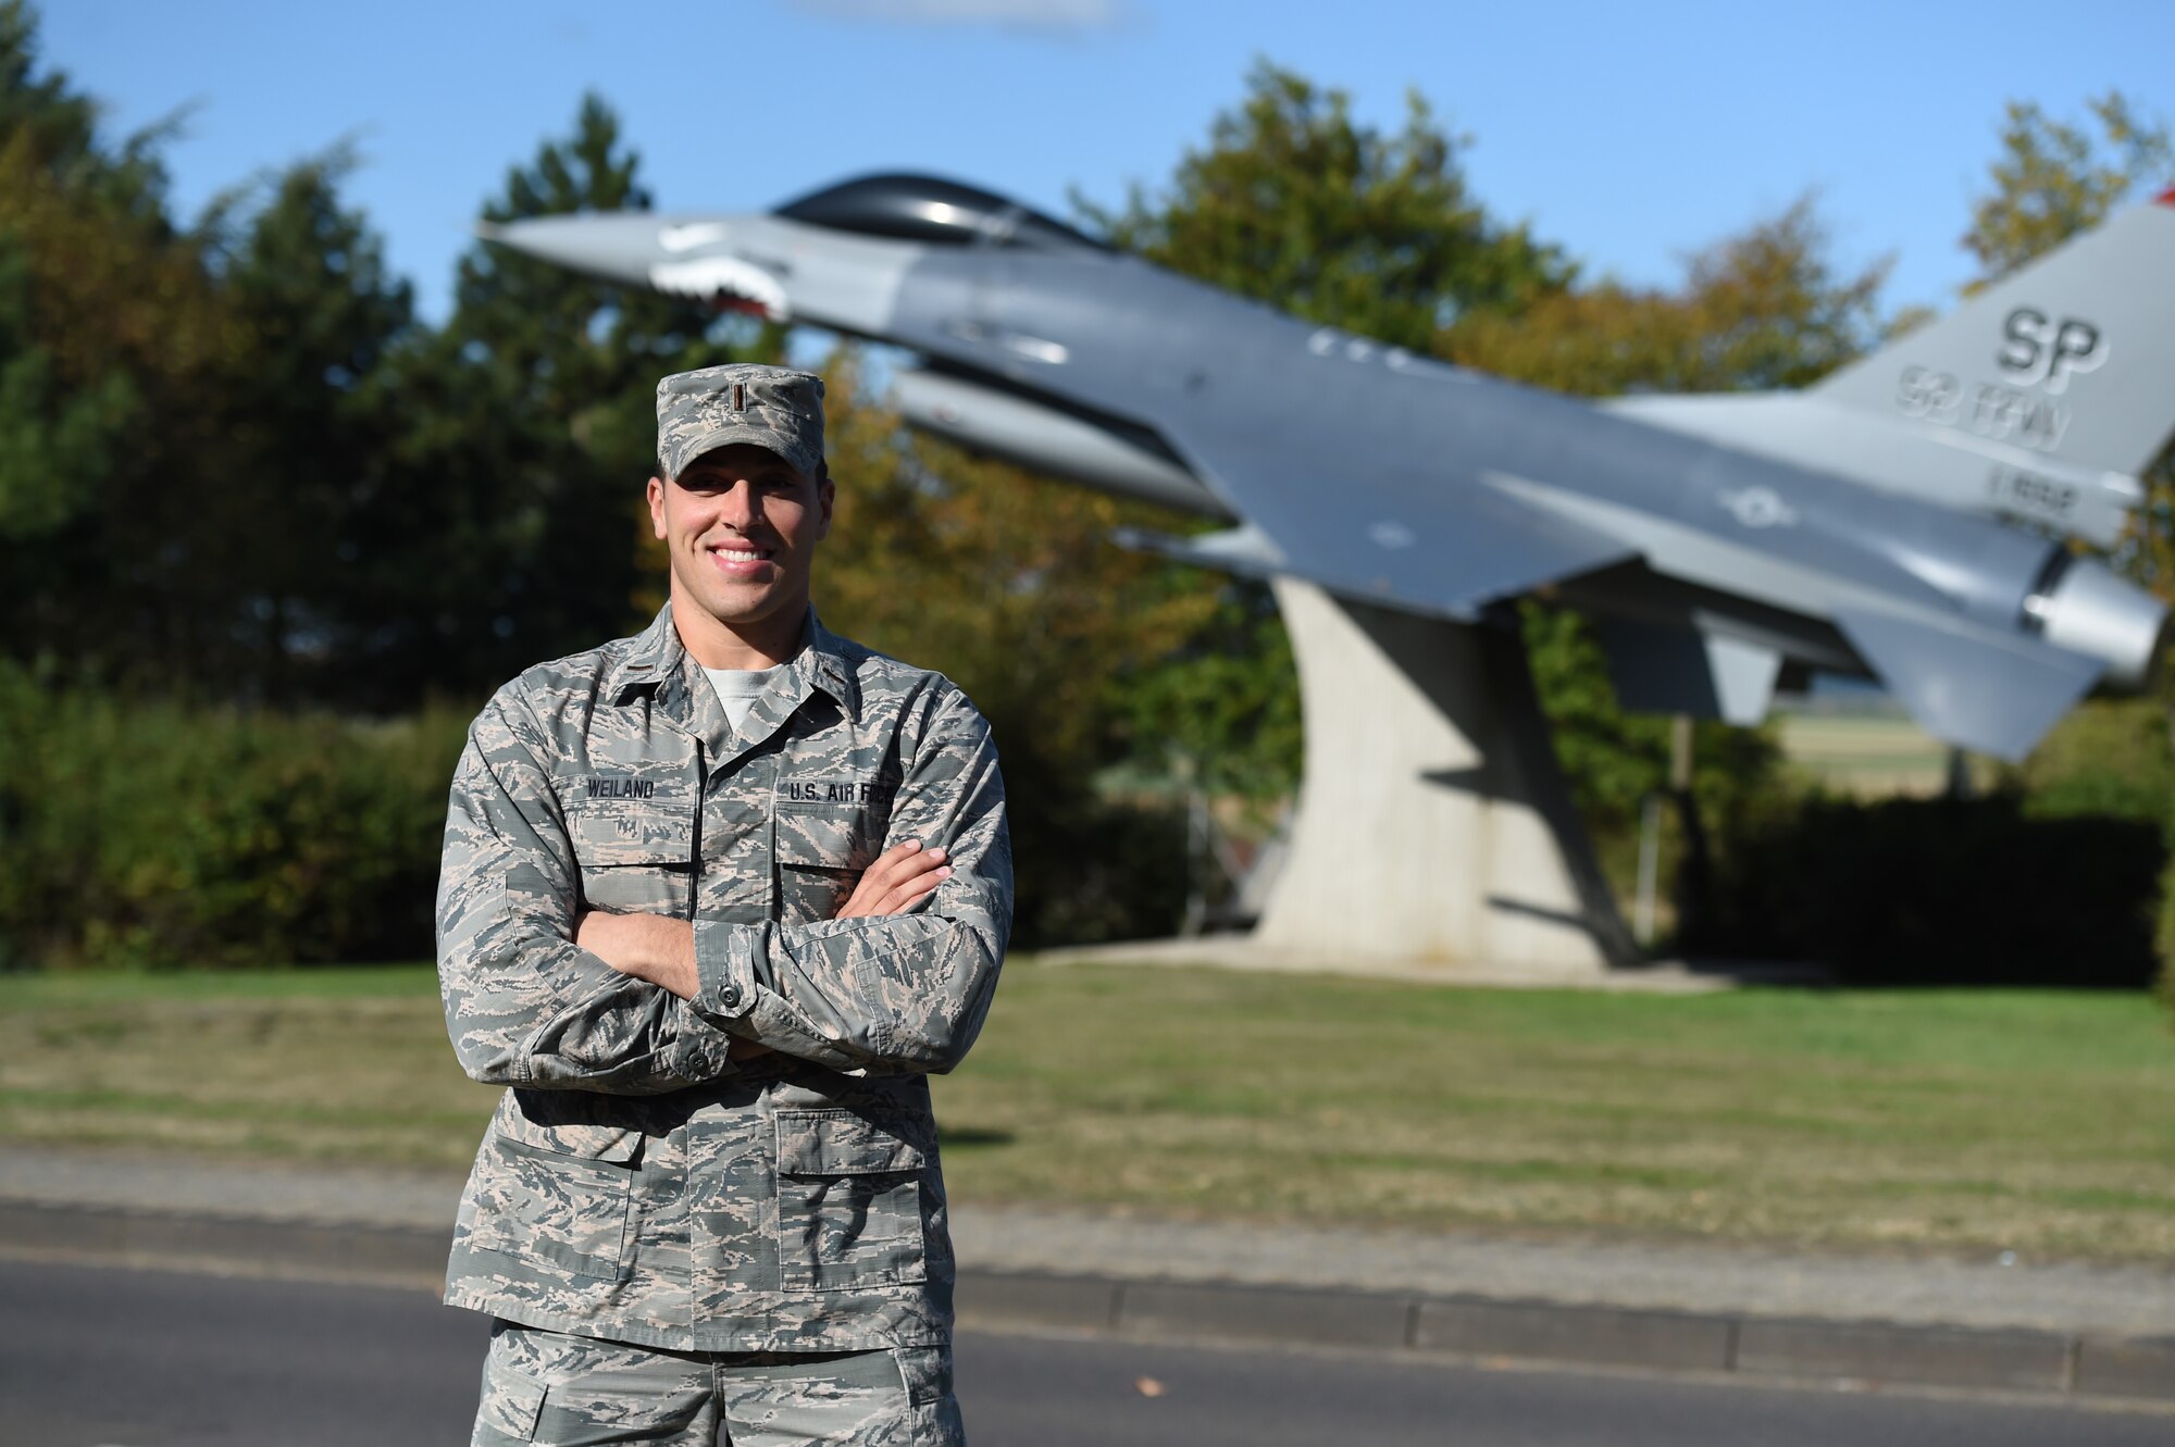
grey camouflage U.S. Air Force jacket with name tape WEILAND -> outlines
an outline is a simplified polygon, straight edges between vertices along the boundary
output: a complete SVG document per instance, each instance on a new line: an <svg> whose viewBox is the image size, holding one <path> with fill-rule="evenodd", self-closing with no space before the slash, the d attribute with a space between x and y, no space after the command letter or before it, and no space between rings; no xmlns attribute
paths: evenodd
<svg viewBox="0 0 2175 1447"><path fill-rule="evenodd" d="M1011 928L996 750L946 678L813 615L785 678L735 732L668 606L476 717L437 958L461 1065L509 1091L448 1304L683 1351L948 1338L927 1073L974 1041ZM833 919L905 839L953 876ZM583 908L692 919L698 995L576 947Z"/></svg>

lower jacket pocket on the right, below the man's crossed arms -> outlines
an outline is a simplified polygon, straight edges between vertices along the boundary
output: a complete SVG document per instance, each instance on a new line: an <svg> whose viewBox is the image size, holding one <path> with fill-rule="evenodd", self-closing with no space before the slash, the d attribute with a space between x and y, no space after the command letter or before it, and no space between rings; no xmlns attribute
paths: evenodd
<svg viewBox="0 0 2175 1447"><path fill-rule="evenodd" d="M927 1280L922 1171L911 1123L779 1110L779 1284L846 1291Z"/></svg>

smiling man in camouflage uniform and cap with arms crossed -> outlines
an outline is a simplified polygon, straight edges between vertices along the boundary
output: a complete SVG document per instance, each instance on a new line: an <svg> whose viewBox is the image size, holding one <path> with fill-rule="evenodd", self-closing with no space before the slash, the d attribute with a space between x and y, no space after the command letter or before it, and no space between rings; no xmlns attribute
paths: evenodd
<svg viewBox="0 0 2175 1447"><path fill-rule="evenodd" d="M809 608L816 376L668 376L657 458L663 613L500 689L452 782L446 1023L509 1086L446 1286L498 1317L474 1440L959 1443L927 1073L1011 928L996 752Z"/></svg>

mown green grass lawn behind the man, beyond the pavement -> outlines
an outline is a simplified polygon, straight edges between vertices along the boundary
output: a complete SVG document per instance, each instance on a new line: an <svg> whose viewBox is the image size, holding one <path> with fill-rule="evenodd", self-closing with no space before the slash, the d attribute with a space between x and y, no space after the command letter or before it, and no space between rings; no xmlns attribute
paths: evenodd
<svg viewBox="0 0 2175 1447"><path fill-rule="evenodd" d="M0 978L0 1141L461 1165L428 971ZM1466 991L1016 960L953 1195L1203 1217L2175 1251L2142 995Z"/></svg>

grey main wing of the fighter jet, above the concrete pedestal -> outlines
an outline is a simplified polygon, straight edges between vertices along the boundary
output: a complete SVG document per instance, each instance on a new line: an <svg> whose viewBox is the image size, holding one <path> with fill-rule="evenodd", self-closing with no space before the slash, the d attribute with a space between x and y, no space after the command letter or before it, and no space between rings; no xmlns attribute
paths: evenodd
<svg viewBox="0 0 2175 1447"><path fill-rule="evenodd" d="M1355 602L1472 619L1499 597L1559 582L1638 550L1457 476L1366 469L1351 454L1279 454L1255 443L1172 439L1248 519L1205 539L1131 539L1240 574L1281 574Z"/></svg>

